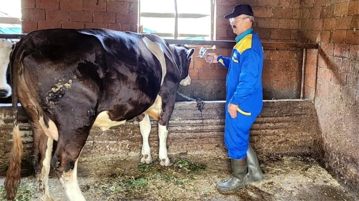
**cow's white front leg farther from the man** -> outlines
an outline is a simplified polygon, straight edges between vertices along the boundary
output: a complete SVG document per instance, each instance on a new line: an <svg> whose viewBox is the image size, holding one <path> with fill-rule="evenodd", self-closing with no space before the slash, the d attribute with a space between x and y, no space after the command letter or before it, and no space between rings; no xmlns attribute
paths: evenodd
<svg viewBox="0 0 359 201"><path fill-rule="evenodd" d="M150 117L147 114L139 116L140 119L140 131L142 135L142 150L141 150L141 163L152 163L151 149L148 142L148 138L151 132Z"/></svg>

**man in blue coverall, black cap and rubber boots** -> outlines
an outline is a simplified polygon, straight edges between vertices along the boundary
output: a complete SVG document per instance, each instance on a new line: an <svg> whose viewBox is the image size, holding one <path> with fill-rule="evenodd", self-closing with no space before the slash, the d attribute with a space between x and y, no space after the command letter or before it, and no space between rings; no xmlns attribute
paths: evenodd
<svg viewBox="0 0 359 201"><path fill-rule="evenodd" d="M208 56L213 56L214 63L228 69L224 142L232 159L233 175L227 182L219 183L217 188L229 192L263 179L257 156L248 139L249 130L263 107L264 53L258 34L253 32L251 6L237 5L224 18L229 19L233 32L237 34L237 44L231 57L216 53L209 53Z"/></svg>

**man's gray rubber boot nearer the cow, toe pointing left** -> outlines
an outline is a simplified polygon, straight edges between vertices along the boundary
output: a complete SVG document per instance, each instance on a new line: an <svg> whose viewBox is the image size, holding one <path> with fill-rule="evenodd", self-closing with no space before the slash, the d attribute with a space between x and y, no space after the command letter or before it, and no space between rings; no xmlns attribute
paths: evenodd
<svg viewBox="0 0 359 201"><path fill-rule="evenodd" d="M232 159L232 178L228 181L217 184L217 189L223 192L231 192L244 188L246 183L244 182L244 177L247 174L247 160L236 160Z"/></svg>

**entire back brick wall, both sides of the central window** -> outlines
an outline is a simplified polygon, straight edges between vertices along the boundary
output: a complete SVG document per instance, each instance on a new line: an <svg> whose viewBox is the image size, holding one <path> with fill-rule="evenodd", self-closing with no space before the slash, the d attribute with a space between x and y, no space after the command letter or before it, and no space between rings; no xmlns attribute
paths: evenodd
<svg viewBox="0 0 359 201"><path fill-rule="evenodd" d="M253 8L255 31L262 41L298 41L299 0L217 0L216 3L217 40L234 40L236 35L223 16L231 12L236 4L245 3ZM22 14L24 33L56 27L137 32L137 0L22 0ZM231 48L221 48L214 52L230 56L231 51ZM300 51L265 51L265 99L299 98L301 55ZM224 100L226 73L223 67L195 58L190 70L193 82L180 90L191 97ZM177 100L182 99L178 97Z"/></svg>

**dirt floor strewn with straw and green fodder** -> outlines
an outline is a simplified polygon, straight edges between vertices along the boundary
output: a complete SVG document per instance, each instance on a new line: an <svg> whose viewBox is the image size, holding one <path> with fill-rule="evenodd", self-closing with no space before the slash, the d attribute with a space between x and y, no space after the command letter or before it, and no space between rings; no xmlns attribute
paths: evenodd
<svg viewBox="0 0 359 201"><path fill-rule="evenodd" d="M225 157L171 158L174 165L168 168L160 167L157 160L148 165L140 164L135 157L83 159L79 163L78 181L88 201L358 200L311 158L259 158L265 180L232 193L216 190L216 183L226 181L231 174L230 159ZM0 182L0 200L3 200L4 178L0 178ZM67 201L53 173L50 190L54 200ZM23 178L17 200L38 200L37 196L36 178Z"/></svg>

